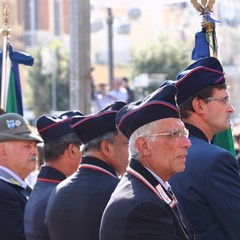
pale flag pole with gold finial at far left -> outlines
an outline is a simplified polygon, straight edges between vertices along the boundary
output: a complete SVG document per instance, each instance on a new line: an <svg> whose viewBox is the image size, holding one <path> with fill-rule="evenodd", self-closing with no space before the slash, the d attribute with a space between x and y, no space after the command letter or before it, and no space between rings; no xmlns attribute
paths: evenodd
<svg viewBox="0 0 240 240"><path fill-rule="evenodd" d="M3 110L6 110L6 95L7 95L7 89L8 89L8 74L9 66L7 66L7 47L8 47L8 41L10 37L10 29L8 26L8 3L6 1L5 7L4 7L4 22L3 27L1 29L2 35L3 35L3 50L2 50L2 77L1 77L1 108Z"/></svg>

